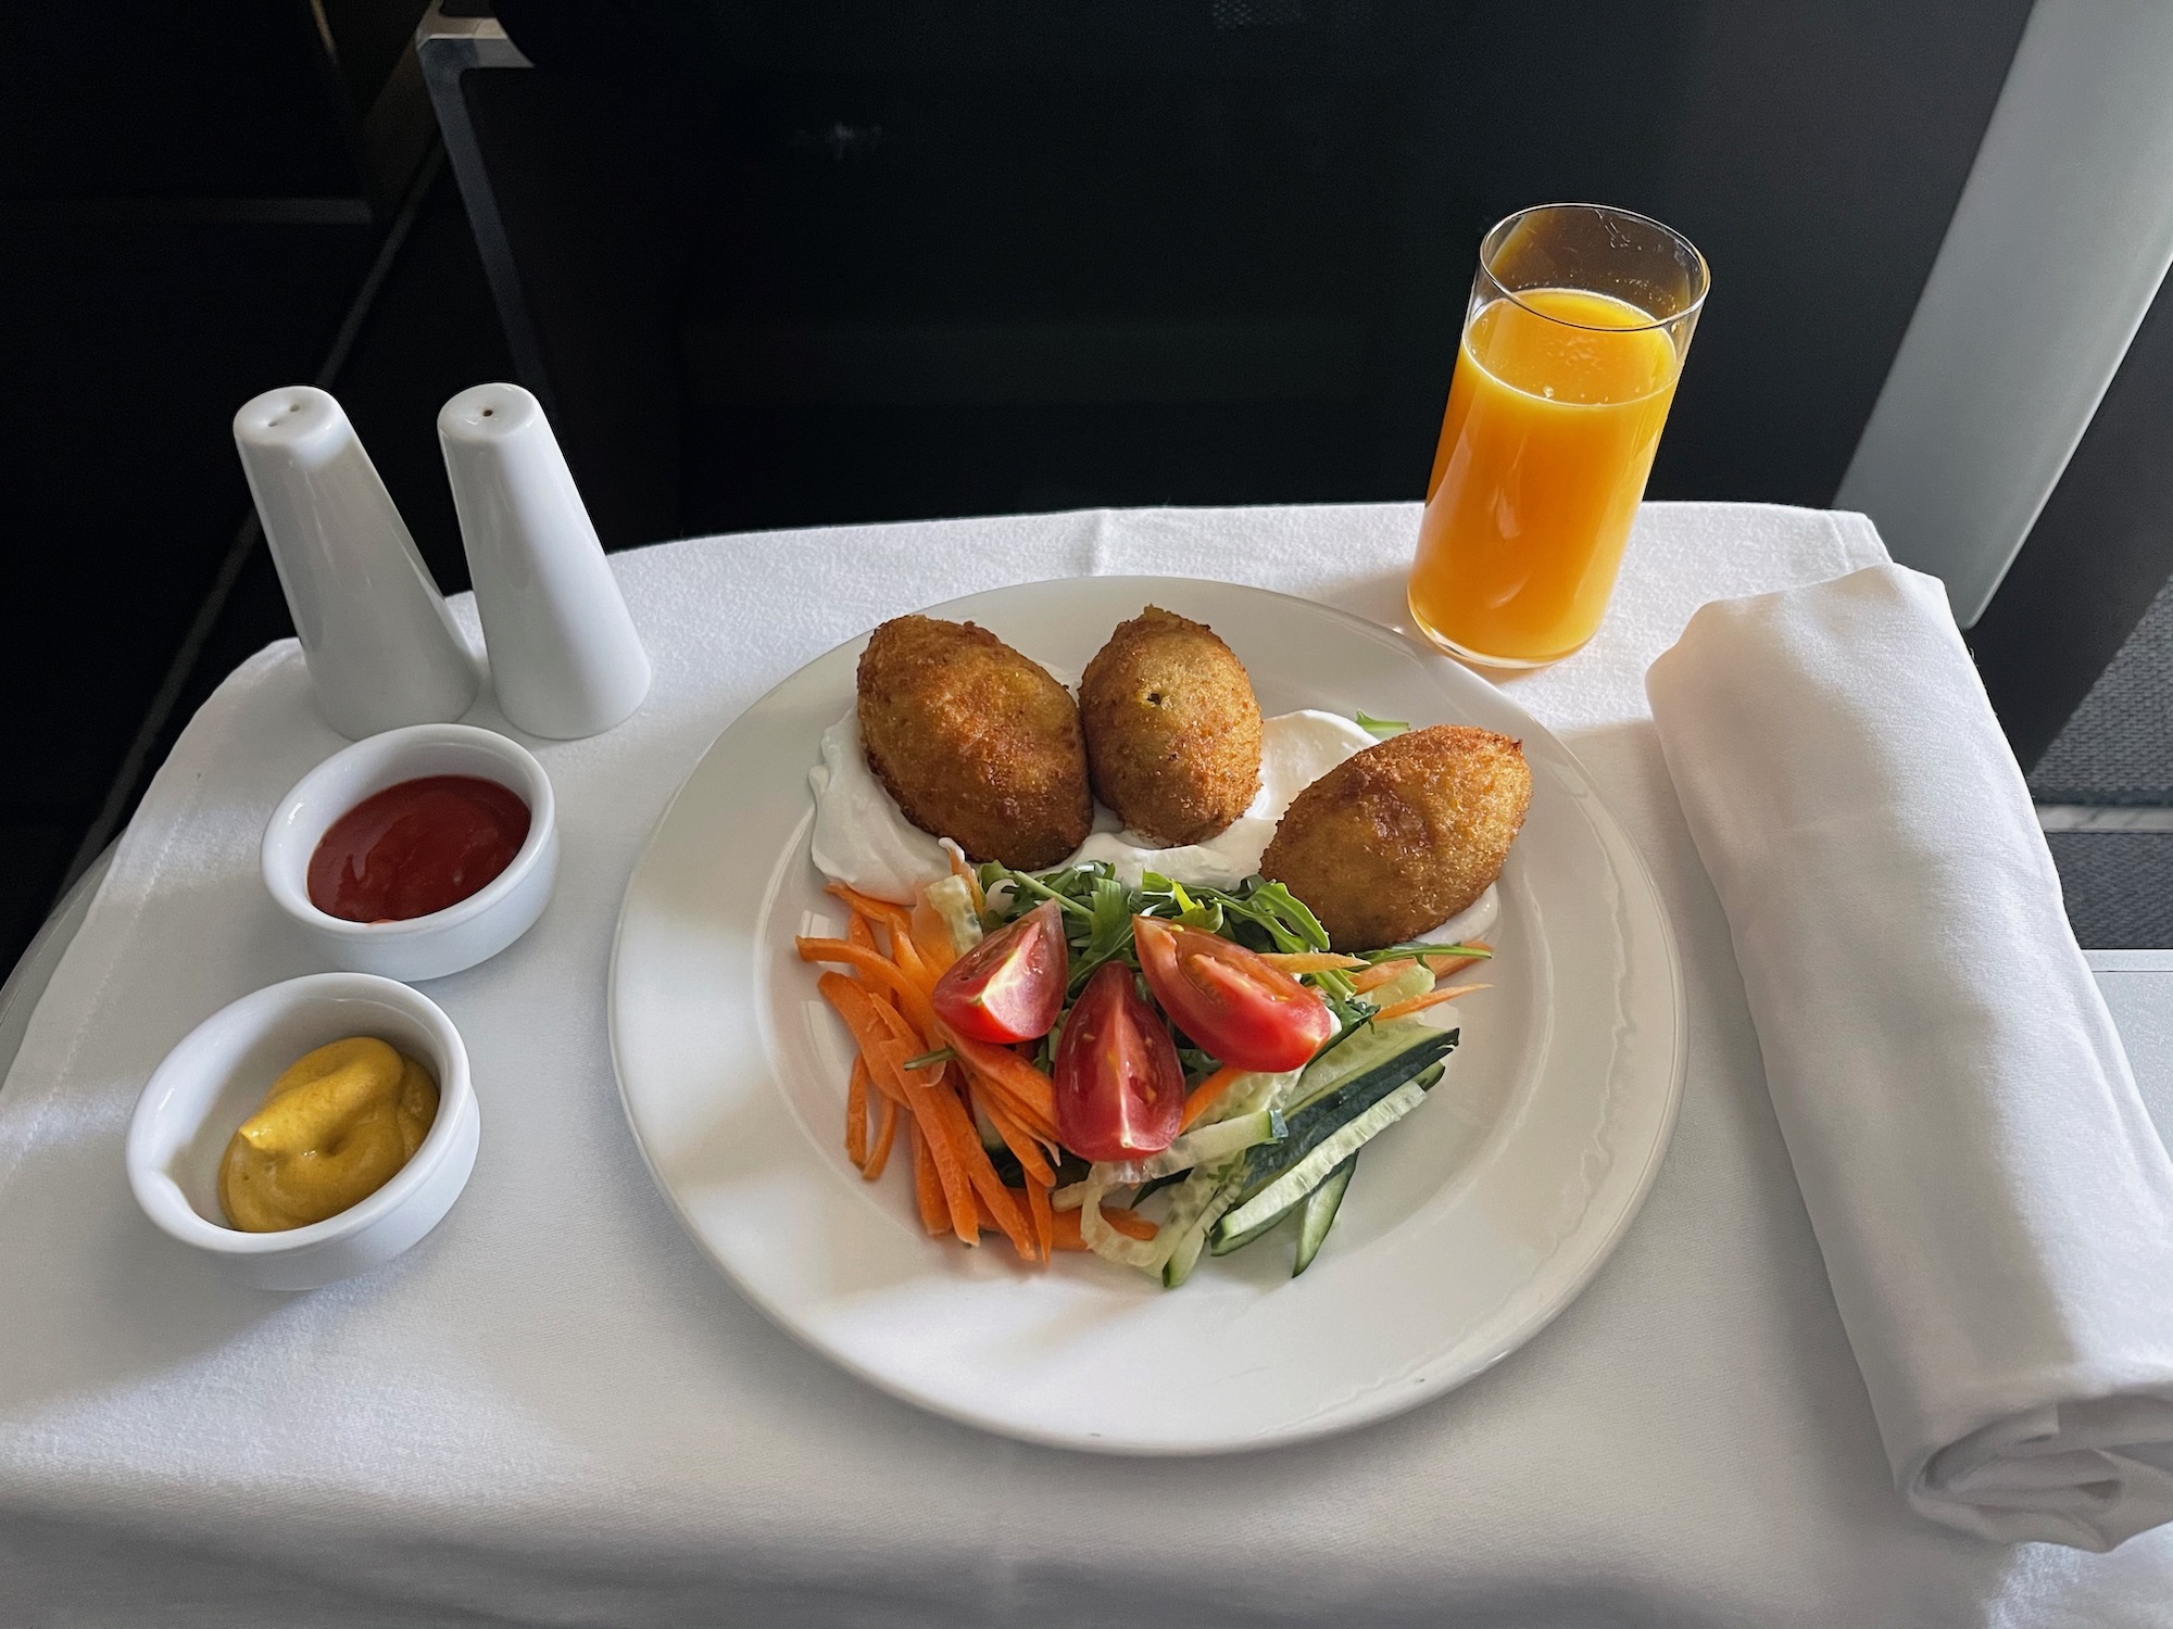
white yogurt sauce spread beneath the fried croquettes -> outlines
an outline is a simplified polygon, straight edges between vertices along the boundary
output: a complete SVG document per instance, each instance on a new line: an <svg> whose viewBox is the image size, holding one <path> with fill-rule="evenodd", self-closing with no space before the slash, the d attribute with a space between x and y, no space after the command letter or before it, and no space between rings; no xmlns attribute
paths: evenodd
<svg viewBox="0 0 2173 1629"><path fill-rule="evenodd" d="M1132 888L1143 871L1158 871L1186 888L1236 888L1260 869L1276 823L1306 786L1339 762L1373 745L1373 736L1334 712L1284 712L1260 723L1260 791L1245 812L1213 843L1154 847L1139 832L1095 804L1095 830L1065 864L1108 860ZM943 843L908 821L867 767L858 710L845 712L821 734L821 762L808 771L815 788L815 869L876 899L910 904L913 891L950 873ZM1421 938L1456 943L1478 938L1499 914L1489 888L1478 901Z"/></svg>

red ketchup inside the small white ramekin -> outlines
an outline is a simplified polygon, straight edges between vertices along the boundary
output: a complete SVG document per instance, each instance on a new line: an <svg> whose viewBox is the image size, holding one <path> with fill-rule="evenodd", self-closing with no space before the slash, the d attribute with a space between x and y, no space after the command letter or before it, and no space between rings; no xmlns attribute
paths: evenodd
<svg viewBox="0 0 2173 1629"><path fill-rule="evenodd" d="M309 856L309 904L409 921L480 893L528 841L528 804L495 780L424 775L372 793Z"/></svg>

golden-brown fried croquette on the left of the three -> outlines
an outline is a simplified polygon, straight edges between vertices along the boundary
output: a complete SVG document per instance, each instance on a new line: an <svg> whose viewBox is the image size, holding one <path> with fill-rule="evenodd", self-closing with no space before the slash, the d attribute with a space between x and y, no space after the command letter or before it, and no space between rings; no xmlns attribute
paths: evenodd
<svg viewBox="0 0 2173 1629"><path fill-rule="evenodd" d="M1078 706L987 628L895 617L869 636L858 689L867 767L924 832L1019 871L1086 841Z"/></svg>

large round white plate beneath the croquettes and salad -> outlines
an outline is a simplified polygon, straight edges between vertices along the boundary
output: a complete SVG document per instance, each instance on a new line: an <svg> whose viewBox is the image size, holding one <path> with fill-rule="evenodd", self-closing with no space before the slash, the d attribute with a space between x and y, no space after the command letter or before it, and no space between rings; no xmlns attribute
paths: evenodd
<svg viewBox="0 0 2173 1629"><path fill-rule="evenodd" d="M1213 623L1265 712L1330 708L1519 736L1532 812L1502 877L1493 988L1447 1079L1382 1136L1319 1260L1208 1260L1180 1290L1091 1255L1050 1268L930 1240L910 1162L845 1160L850 1047L793 956L841 927L808 860L806 771L865 639L708 749L619 917L611 1043L656 1184L734 1284L854 1375L971 1425L1113 1453L1293 1442L1410 1407L1530 1340L1615 1249L1675 1121L1684 1008L1645 862L1575 758L1454 662L1336 610L1182 578L997 589L974 619L1080 671L1145 604Z"/></svg>

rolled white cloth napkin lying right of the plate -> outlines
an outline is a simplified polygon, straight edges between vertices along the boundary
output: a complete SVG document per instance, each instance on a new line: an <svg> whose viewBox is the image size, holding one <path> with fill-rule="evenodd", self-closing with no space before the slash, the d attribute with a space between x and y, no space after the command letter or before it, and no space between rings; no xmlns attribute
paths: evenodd
<svg viewBox="0 0 2173 1629"><path fill-rule="evenodd" d="M2173 1520L2173 1162L1934 578L1699 610L1645 678L1895 1486Z"/></svg>

